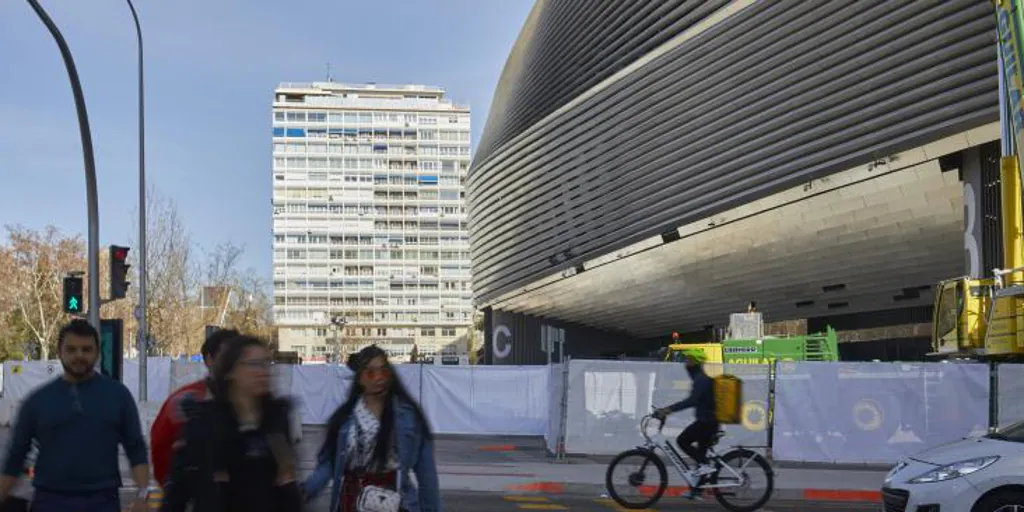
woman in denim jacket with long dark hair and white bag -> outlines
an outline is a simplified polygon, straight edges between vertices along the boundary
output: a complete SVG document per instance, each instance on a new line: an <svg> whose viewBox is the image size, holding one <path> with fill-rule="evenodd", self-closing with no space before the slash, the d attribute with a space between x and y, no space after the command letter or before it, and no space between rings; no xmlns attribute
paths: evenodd
<svg viewBox="0 0 1024 512"><path fill-rule="evenodd" d="M377 346L364 348L349 368L352 387L328 420L316 469L302 485L306 500L331 482L328 510L356 512L364 487L394 490L400 485L402 510L440 512L433 435L423 412L394 377L387 353Z"/></svg>

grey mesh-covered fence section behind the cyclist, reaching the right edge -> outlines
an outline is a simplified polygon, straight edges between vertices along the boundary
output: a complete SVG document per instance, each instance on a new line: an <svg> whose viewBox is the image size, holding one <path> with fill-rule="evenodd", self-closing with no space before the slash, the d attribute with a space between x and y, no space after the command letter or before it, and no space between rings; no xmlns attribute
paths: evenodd
<svg viewBox="0 0 1024 512"><path fill-rule="evenodd" d="M1020 365L777 362L707 371L743 380L742 423L724 426L722 444L761 447L776 460L891 463L1024 420ZM685 368L671 362L573 360L565 373L567 454L636 446L640 419L690 390ZM664 433L678 434L692 420L692 411L673 415Z"/></svg>

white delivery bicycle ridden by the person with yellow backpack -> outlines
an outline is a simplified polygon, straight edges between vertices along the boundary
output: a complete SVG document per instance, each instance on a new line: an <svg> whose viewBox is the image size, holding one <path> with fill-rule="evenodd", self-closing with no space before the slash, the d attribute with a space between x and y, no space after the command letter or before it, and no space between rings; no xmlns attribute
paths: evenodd
<svg viewBox="0 0 1024 512"><path fill-rule="evenodd" d="M662 499L669 485L669 473L665 462L657 454L658 451L668 456L669 462L672 463L676 471L679 472L679 476L686 481L690 488L711 490L715 495L715 500L728 510L733 512L753 512L768 503L774 489L775 475L771 465L768 464L768 461L761 454L743 446L735 446L725 454L720 455L715 451L715 445L725 435L725 432L719 430L712 441L712 445L708 449L708 460L715 466L715 472L702 477L695 477L690 474L690 466L686 464L679 451L673 445L673 439L662 435L662 430L665 428L664 419L660 420L660 426L657 429L657 433L653 435L653 438L649 434L648 427L650 421L653 419L655 419L653 416L647 415L640 421L640 433L644 437L644 443L633 450L623 452L608 464L608 470L605 474L605 485L608 488L608 495L620 506L627 509L647 509ZM612 474L616 467L631 457L639 457L642 462L639 464L640 468L638 471L629 474L629 484L641 489L640 494L643 495L645 501L632 502L626 500L612 483ZM733 467L731 464L733 462L738 463L738 466ZM653 466L657 471L656 485L644 485L646 483L644 470L648 465ZM755 469L757 472L764 473L765 488L760 494L755 495L756 499L751 504L741 505L734 501L736 494L733 489L743 490L750 488L751 476Z"/></svg>

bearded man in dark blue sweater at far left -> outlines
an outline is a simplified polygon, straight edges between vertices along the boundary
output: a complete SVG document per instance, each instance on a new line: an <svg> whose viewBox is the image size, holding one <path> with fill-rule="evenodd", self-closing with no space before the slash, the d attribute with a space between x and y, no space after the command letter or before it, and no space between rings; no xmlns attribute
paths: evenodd
<svg viewBox="0 0 1024 512"><path fill-rule="evenodd" d="M60 330L57 352L63 375L22 403L0 476L0 504L36 440L34 512L120 512L120 443L139 489L131 510L142 512L150 485L145 438L128 389L94 371L99 333L85 321L73 321Z"/></svg>

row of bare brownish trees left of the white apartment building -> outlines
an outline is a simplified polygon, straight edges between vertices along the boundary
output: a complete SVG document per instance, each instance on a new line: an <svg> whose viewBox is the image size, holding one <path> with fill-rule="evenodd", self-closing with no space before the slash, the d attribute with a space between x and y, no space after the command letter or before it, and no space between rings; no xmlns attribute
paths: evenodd
<svg viewBox="0 0 1024 512"><path fill-rule="evenodd" d="M238 329L273 340L272 299L266 280L252 269L241 269L244 249L219 244L201 261L177 205L156 190L150 193L147 319L151 354L195 354L205 337L206 325ZM134 230L133 230L134 231ZM53 227L41 232L7 228L8 244L0 243L0 356L17 355L26 341L37 344L48 357L55 335L69 317L61 307L61 279L71 270L84 270L84 244ZM131 241L131 247L137 247ZM138 270L137 251L129 253ZM108 257L100 257L100 286L105 290ZM125 342L134 345L138 323L138 275L125 299L102 305L103 318L121 318ZM212 305L214 307L204 307ZM88 307L94 307L88 304Z"/></svg>

